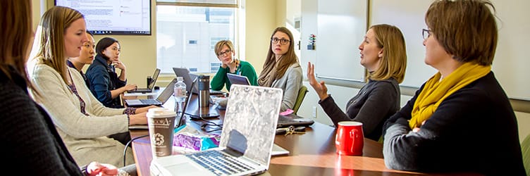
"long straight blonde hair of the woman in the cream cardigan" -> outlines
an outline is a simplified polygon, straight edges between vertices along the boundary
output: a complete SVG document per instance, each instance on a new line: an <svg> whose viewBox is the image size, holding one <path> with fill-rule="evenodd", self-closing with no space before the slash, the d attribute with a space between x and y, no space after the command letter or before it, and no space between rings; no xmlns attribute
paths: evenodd
<svg viewBox="0 0 530 176"><path fill-rule="evenodd" d="M54 6L42 15L39 26L42 27L39 36L39 50L37 63L54 68L63 81L68 84L64 34L66 28L84 16L73 8ZM36 38L37 39L37 38Z"/></svg>

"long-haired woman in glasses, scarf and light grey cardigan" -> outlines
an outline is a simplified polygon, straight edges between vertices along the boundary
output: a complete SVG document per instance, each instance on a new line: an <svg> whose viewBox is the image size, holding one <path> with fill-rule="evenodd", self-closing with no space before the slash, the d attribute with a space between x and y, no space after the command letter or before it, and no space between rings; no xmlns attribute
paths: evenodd
<svg viewBox="0 0 530 176"><path fill-rule="evenodd" d="M272 32L269 53L258 78L260 86L283 89L281 111L295 106L302 87L302 68L292 42L292 33L287 28L278 27Z"/></svg>

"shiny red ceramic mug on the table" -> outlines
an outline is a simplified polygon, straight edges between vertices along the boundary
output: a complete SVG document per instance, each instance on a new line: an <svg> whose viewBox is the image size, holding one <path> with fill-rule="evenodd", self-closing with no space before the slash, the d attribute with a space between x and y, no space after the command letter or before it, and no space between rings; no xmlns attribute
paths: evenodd
<svg viewBox="0 0 530 176"><path fill-rule="evenodd" d="M340 155L362 155L364 146L364 134L362 133L362 122L344 121L338 122L335 147Z"/></svg>

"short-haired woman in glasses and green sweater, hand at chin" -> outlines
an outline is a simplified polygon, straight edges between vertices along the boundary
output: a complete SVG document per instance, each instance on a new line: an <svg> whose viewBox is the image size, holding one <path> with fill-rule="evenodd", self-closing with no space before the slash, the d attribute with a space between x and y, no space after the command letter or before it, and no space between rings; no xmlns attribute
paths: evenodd
<svg viewBox="0 0 530 176"><path fill-rule="evenodd" d="M226 85L226 89L230 90L232 83L228 80L226 73L233 73L236 75L243 75L249 79L250 84L257 86L258 80L256 70L246 61L240 61L234 58L234 45L230 40L221 40L215 46L215 54L219 61L221 61L221 68L210 82L210 87L213 90L221 90Z"/></svg>

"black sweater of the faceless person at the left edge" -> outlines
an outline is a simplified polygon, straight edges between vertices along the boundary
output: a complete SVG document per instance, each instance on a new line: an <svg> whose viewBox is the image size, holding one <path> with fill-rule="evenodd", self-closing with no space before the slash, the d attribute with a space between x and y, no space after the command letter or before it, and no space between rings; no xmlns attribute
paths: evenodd
<svg viewBox="0 0 530 176"><path fill-rule="evenodd" d="M0 71L1 170L16 175L83 175L47 113L27 94L23 77Z"/></svg>

